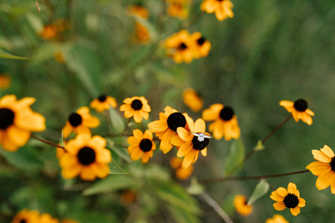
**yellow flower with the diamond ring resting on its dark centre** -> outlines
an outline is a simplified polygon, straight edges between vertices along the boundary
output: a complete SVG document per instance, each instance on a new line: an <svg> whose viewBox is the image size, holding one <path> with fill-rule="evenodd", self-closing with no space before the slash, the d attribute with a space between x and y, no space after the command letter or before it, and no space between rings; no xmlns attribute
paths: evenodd
<svg viewBox="0 0 335 223"><path fill-rule="evenodd" d="M183 127L177 128L178 136L171 137L170 141L173 145L179 146L177 152L178 157L184 157L183 168L186 169L198 159L199 151L203 156L207 156L207 145L210 136L205 132L206 125L202 119L197 119L195 123L190 117L186 117L190 131Z"/></svg>

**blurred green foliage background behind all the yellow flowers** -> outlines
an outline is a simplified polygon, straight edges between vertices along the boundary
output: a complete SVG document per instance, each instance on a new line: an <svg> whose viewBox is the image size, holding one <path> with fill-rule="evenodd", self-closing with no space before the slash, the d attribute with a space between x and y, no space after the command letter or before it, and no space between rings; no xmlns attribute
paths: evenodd
<svg viewBox="0 0 335 223"><path fill-rule="evenodd" d="M40 0L40 12L35 3L0 1L0 49L29 57L0 59L0 73L11 78L9 88L0 92L1 96L36 98L31 107L47 124L41 137L58 142L68 115L102 93L115 97L118 107L126 97L146 97L152 109L149 120L133 129L145 130L166 105L196 120L201 113L192 112L182 102L183 90L192 87L203 97L204 109L222 103L235 110L246 154L289 115L279 106L280 100L304 98L314 111L311 126L291 119L265 143L264 150L246 162L238 176L305 170L315 161L312 149L325 144L335 149L334 1L232 1L235 15L224 21L202 13L187 30L201 32L212 49L207 57L190 64L176 64L165 55L162 41L189 21L168 16L165 1ZM147 45L133 41L135 19L127 14L127 6L136 4L149 11L151 40ZM200 4L192 0L190 18L200 12ZM68 27L56 38L43 39L43 27L59 19L65 19ZM57 52L64 63L55 60ZM106 135L104 117L93 110L91 114L102 121L93 134ZM115 142L127 145L125 140ZM211 139L207 157L199 156L192 176L198 180L223 176L234 142ZM130 174L111 175L105 181L108 190L89 196L82 191L91 182L60 176L54 147L31 139L16 153L1 150L0 222L9 222L23 208L83 223L223 222L204 200L185 192L190 180L175 179L169 166L175 149L164 155L157 149L148 164L130 162L115 152L117 148L109 149L116 163ZM127 155L124 149L122 152ZM275 202L269 198L272 189L254 203L251 215L237 214L233 197L250 196L257 180L210 184L205 192L233 222L265 222L273 214L282 214L289 222L334 222L334 195L330 188L318 191L316 178L302 173L268 179L274 188L287 188L289 182L297 185L306 200L298 216L287 209L274 210ZM93 183L99 181L104 182ZM128 183L113 188L112 182ZM125 189L136 192L133 204L121 201Z"/></svg>

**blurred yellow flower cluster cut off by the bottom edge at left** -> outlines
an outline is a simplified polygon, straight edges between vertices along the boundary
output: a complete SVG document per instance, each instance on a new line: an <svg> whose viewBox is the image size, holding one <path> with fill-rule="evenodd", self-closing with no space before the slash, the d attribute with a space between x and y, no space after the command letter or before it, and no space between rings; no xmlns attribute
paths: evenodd
<svg viewBox="0 0 335 223"><path fill-rule="evenodd" d="M11 223L78 223L70 219L62 220L61 222L57 218L51 217L50 214L40 214L35 210L23 209L18 212Z"/></svg>

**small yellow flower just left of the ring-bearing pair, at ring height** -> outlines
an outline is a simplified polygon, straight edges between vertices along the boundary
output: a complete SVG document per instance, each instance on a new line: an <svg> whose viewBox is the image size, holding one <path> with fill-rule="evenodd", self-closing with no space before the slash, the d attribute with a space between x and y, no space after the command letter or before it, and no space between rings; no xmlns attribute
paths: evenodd
<svg viewBox="0 0 335 223"><path fill-rule="evenodd" d="M156 145L152 142L152 133L145 130L144 134L139 129L133 130L133 136L128 137L128 152L132 160L138 160L142 157L142 163L149 161L152 157Z"/></svg>

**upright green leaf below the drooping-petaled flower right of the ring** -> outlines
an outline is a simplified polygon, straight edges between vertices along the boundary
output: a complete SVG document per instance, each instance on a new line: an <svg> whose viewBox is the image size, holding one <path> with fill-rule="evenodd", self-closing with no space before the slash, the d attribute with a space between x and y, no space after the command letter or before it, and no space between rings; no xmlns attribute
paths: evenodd
<svg viewBox="0 0 335 223"><path fill-rule="evenodd" d="M226 176L238 172L242 168L245 147L241 139L235 140L230 146L230 153L226 159L224 172Z"/></svg>

